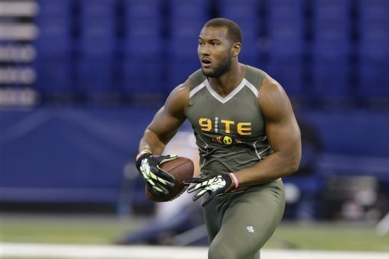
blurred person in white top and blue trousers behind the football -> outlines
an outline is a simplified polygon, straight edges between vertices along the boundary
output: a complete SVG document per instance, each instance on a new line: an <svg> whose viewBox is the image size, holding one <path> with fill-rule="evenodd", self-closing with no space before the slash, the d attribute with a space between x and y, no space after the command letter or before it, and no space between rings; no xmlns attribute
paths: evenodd
<svg viewBox="0 0 389 259"><path fill-rule="evenodd" d="M194 175L199 174L199 157L195 137L187 131L179 131L165 147L165 154L180 154L194 162ZM137 173L138 174L138 173ZM140 175L138 174L140 177ZM128 195L128 193L126 193ZM194 230L204 224L202 209L199 203L193 204L190 194L183 193L170 202L155 204L152 219L136 231L129 231L114 240L115 244L206 244L206 233L200 227L198 234L189 235L183 240L180 234ZM187 232L189 233L189 232Z"/></svg>

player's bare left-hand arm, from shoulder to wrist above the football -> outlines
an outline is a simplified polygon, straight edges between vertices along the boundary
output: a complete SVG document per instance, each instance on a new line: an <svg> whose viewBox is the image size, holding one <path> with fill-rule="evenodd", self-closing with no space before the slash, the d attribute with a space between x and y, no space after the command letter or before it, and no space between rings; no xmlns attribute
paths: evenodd
<svg viewBox="0 0 389 259"><path fill-rule="evenodd" d="M155 155L160 155L185 121L188 102L189 82L187 81L170 93L165 104L155 114L141 138L139 151L147 149Z"/></svg>

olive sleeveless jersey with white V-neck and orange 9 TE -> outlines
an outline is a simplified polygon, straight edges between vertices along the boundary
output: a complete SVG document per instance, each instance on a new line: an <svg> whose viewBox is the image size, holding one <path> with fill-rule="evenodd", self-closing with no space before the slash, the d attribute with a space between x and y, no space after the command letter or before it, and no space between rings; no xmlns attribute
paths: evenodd
<svg viewBox="0 0 389 259"><path fill-rule="evenodd" d="M195 132L203 176L236 172L273 153L258 105L265 75L247 66L242 82L226 97L212 89L201 69L189 77L186 117Z"/></svg>

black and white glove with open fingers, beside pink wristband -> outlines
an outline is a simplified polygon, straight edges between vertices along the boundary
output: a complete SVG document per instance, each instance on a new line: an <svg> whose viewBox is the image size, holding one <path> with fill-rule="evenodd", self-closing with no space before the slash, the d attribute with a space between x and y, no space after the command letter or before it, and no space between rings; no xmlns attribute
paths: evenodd
<svg viewBox="0 0 389 259"><path fill-rule="evenodd" d="M206 206L215 196L225 193L229 190L232 180L228 174L219 174L216 176L207 176L204 178L189 178L184 180L185 184L195 183L194 186L188 189L188 193L200 190L192 198L196 201L198 198L208 193L208 197L201 204L202 207Z"/></svg>

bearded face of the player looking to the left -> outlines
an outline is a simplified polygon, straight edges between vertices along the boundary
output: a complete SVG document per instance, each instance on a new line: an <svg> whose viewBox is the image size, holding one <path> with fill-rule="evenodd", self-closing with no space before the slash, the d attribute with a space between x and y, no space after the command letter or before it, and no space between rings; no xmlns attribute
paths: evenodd
<svg viewBox="0 0 389 259"><path fill-rule="evenodd" d="M231 42L225 27L204 27L198 37L197 54L207 77L219 77L230 70Z"/></svg>

